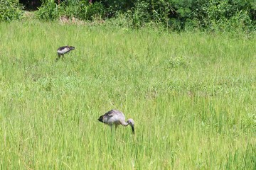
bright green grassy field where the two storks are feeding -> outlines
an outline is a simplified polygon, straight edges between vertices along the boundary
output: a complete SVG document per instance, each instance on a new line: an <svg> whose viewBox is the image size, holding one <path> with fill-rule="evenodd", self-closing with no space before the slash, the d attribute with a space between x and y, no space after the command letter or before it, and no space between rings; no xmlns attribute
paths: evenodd
<svg viewBox="0 0 256 170"><path fill-rule="evenodd" d="M256 36L0 25L0 169L256 169ZM73 45L64 60L56 50ZM135 121L113 134L112 108Z"/></svg>

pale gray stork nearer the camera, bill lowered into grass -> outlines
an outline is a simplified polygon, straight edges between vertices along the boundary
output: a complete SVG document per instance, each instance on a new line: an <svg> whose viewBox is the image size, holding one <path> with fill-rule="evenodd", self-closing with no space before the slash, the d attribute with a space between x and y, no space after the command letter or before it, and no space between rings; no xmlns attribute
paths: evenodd
<svg viewBox="0 0 256 170"><path fill-rule="evenodd" d="M117 110L111 110L105 113L105 115L101 115L98 120L102 123L105 123L107 125L110 125L110 128L112 130L112 125L115 125L115 128L117 128L118 125L127 126L130 125L132 127L132 133L134 134L134 120L129 118L127 122L125 122L124 113Z"/></svg>

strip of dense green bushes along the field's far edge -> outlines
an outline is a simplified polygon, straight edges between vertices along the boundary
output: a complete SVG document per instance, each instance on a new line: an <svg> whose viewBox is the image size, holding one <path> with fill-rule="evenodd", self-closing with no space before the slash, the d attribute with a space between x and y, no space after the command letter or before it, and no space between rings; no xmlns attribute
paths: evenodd
<svg viewBox="0 0 256 170"><path fill-rule="evenodd" d="M33 0L34 1L34 0ZM18 0L0 0L0 21L21 19ZM256 26L255 0L41 0L36 18L43 21L114 21L116 25L144 28L149 24L171 30L239 30L248 33ZM32 0L26 4L33 4ZM12 16L13 15L13 16Z"/></svg>

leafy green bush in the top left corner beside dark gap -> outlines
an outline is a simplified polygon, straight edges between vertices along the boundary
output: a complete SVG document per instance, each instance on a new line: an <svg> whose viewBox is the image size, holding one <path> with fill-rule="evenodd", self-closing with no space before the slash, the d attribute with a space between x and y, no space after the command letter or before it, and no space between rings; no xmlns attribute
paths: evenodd
<svg viewBox="0 0 256 170"><path fill-rule="evenodd" d="M23 16L23 6L18 0L0 0L0 21L13 21Z"/></svg>

